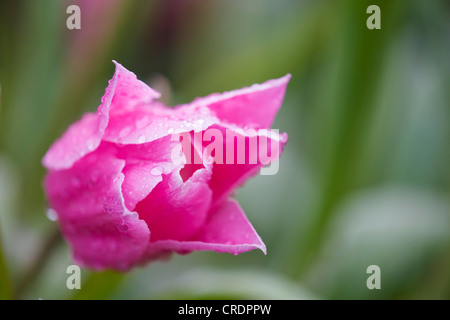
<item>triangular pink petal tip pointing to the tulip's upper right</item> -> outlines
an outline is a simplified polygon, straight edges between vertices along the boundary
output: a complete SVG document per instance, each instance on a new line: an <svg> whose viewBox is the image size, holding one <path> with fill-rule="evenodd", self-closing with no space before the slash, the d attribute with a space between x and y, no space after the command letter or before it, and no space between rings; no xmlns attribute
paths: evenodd
<svg viewBox="0 0 450 320"><path fill-rule="evenodd" d="M207 106L226 123L245 128L269 128L281 107L291 75L239 90L214 93L191 104Z"/></svg>

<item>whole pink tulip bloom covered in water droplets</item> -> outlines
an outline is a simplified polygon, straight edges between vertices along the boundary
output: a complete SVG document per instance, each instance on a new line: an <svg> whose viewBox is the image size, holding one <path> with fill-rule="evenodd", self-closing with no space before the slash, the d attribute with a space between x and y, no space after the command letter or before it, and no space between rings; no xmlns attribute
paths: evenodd
<svg viewBox="0 0 450 320"><path fill-rule="evenodd" d="M185 156L189 140L174 137L193 137L197 158L209 141L196 144L196 137L208 128L234 130L252 145L270 127L290 76L168 108L156 101L158 92L115 64L97 113L72 124L43 158L47 198L76 263L124 271L171 252L265 253L230 194L279 157L287 135L269 135L269 144L281 146L269 160L247 148L246 159L254 161L243 164L203 157L193 163ZM236 154L242 148L226 139L223 147Z"/></svg>

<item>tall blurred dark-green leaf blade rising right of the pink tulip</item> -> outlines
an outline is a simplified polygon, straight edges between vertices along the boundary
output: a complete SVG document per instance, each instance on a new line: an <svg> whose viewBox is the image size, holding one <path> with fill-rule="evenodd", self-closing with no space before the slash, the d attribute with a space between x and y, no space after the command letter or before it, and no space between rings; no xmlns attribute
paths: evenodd
<svg viewBox="0 0 450 320"><path fill-rule="evenodd" d="M320 57L321 70L309 119L309 157L318 172L320 196L312 208L307 241L301 241L304 236L290 230L291 242L295 243L290 249L295 253L289 260L296 263L286 265L293 276L301 276L310 267L336 204L358 187L364 137L376 107L380 71L389 40L396 34L392 25L398 4L384 3L383 28L373 32L366 27L366 1L339 3L335 33Z"/></svg>

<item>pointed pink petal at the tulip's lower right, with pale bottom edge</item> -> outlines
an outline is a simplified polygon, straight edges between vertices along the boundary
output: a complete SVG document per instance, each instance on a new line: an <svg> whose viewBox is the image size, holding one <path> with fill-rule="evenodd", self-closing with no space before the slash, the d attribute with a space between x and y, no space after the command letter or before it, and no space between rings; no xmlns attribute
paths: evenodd
<svg viewBox="0 0 450 320"><path fill-rule="evenodd" d="M266 246L234 200L224 202L209 214L208 220L189 241L160 240L148 246L148 256L158 257L163 252L189 253L195 250L212 250L239 254Z"/></svg>

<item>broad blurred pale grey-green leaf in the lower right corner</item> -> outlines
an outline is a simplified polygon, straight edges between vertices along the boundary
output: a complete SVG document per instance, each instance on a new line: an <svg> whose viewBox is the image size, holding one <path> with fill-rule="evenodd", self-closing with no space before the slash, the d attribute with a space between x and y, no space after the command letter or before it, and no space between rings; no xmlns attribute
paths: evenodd
<svg viewBox="0 0 450 320"><path fill-rule="evenodd" d="M334 213L321 259L309 273L310 284L332 299L411 294L448 254L448 207L444 195L418 188L390 186L352 194ZM381 269L381 290L366 286L370 265ZM446 273L448 269L440 273L444 283Z"/></svg>

